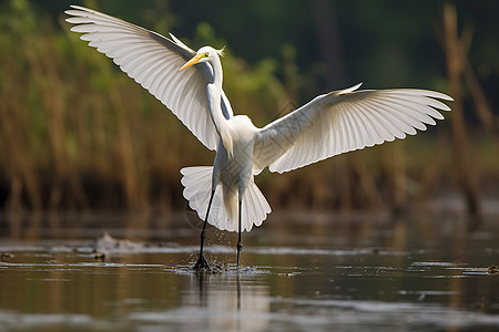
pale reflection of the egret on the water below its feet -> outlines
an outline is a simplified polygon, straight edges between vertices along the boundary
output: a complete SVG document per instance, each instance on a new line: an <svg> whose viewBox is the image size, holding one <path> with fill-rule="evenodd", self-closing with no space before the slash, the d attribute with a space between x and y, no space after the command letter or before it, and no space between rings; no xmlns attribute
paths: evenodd
<svg viewBox="0 0 499 332"><path fill-rule="evenodd" d="M175 331L265 331L271 317L268 287L255 283L251 272L192 273L179 307L132 313L133 321L169 323Z"/></svg>

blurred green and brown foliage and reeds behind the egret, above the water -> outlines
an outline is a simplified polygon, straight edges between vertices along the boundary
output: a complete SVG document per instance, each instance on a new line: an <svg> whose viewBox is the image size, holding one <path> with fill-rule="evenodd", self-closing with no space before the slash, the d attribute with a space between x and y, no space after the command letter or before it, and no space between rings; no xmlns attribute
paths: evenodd
<svg viewBox="0 0 499 332"><path fill-rule="evenodd" d="M468 45L460 59L469 70L452 85L442 1L3 0L1 209L184 209L179 170L213 163L171 112L69 31L71 3L173 32L193 49L225 45L224 90L257 126L358 82L462 93L464 146L452 139L452 112L417 137L285 175L264 172L256 181L274 209L400 210L466 197L469 175L472 195L499 196L497 1L447 3Z"/></svg>

